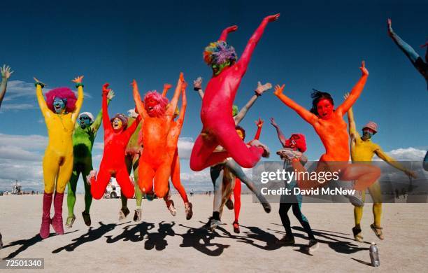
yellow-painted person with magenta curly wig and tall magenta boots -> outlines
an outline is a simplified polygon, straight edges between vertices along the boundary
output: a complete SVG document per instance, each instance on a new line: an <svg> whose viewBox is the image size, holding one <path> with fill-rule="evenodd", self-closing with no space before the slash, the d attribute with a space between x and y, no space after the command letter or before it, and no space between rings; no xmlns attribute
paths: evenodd
<svg viewBox="0 0 428 273"><path fill-rule="evenodd" d="M78 98L68 87L59 87L47 92L46 101L43 98L44 84L36 80L36 96L38 106L45 118L48 129L48 147L43 157L43 180L45 193L43 194L43 214L40 236L49 237L50 224L59 235L64 235L62 222L62 201L64 190L73 171L73 140L72 134L80 108L83 104L83 76L73 80L78 88ZM55 190L56 181L56 190ZM55 197L53 192L55 191ZM53 204L55 214L50 219L50 207Z"/></svg>

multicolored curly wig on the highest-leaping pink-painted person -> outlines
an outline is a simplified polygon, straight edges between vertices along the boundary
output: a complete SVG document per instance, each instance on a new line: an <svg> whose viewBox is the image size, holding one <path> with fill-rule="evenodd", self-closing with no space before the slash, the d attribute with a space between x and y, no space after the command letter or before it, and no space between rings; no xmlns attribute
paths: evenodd
<svg viewBox="0 0 428 273"><path fill-rule="evenodd" d="M238 59L235 48L225 41L210 43L204 51L204 61L209 66L213 64L224 64L227 61L235 62Z"/></svg>

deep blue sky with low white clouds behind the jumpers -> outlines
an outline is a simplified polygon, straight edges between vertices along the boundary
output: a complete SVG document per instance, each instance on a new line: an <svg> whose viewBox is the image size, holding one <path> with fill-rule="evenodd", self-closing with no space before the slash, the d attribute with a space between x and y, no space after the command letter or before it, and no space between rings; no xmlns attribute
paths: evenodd
<svg viewBox="0 0 428 273"><path fill-rule="evenodd" d="M92 113L101 107L101 85L109 82L117 94L110 104L110 115L126 112L133 107L129 87L133 78L141 92L161 90L164 83L175 84L180 71L189 83L197 76L206 83L211 69L201 57L204 47L215 41L224 27L238 25L228 42L239 56L262 18L274 13L281 13L280 19L266 27L236 104L247 102L258 80L285 83L285 94L307 108L312 88L331 92L340 104L343 93L359 79L358 68L364 59L370 76L354 107L357 126L376 121L379 133L373 141L385 151L415 151L418 157L428 148L427 85L387 36L386 20L392 18L394 31L424 56L419 45L427 39L427 8L427 1L263 1L263 5L224 1L217 6L208 1L2 3L0 63L9 64L15 73L0 111L0 189L9 188L15 176L27 185L43 185L39 166L47 134L31 85L33 76L50 87L72 87L71 78L84 75L87 97L82 110ZM188 110L180 142L183 155L201 130L200 99L192 88L187 92ZM313 128L271 92L260 97L243 120L247 135L252 136L254 120L262 117L266 123L261 140L274 154L280 148L269 124L269 118L274 117L285 134L306 134L308 158L317 160L324 148ZM13 146L10 136L22 139ZM94 148L96 168L102 137L101 130L96 139L99 148ZM39 142L31 146L32 139ZM276 160L275 155L271 160ZM16 167L21 165L22 169ZM34 167L32 179L22 174L29 165ZM206 172L190 172L187 160L182 165L187 185L210 186Z"/></svg>

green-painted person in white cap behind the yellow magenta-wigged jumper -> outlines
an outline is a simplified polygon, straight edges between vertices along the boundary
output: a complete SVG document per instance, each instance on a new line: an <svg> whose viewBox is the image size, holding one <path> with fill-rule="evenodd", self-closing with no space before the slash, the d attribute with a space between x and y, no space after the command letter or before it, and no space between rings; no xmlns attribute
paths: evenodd
<svg viewBox="0 0 428 273"><path fill-rule="evenodd" d="M108 93L109 103L115 96L113 91ZM94 146L95 137L101 125L103 117L102 111L99 111L97 118L94 120L92 113L80 113L76 126L73 132L73 173L71 174L68 183L67 192L67 207L69 207L69 216L66 221L66 228L71 228L76 216L74 215L74 204L76 204L76 188L80 174L83 176L83 181L86 181L86 176L92 171L92 146ZM82 212L83 221L89 227L91 225L90 207L92 204L91 186L85 184L85 211Z"/></svg>

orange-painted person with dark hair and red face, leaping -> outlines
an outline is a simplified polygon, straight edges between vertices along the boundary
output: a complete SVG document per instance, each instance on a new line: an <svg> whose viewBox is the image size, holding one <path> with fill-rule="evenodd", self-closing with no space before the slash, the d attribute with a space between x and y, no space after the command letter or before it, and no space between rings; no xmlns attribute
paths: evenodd
<svg viewBox="0 0 428 273"><path fill-rule="evenodd" d="M322 144L324 144L326 152L318 161L315 172L339 172L338 176L342 181L355 181L353 185L351 183L348 184L348 186L353 186L355 189L355 195L348 195L347 197L350 198L352 204L362 206L361 191L366 190L379 178L380 169L365 164L348 164L350 156L349 137L343 116L348 112L352 104L357 101L369 76L369 71L364 66L364 62L362 62L362 66L359 69L362 71L361 78L352 88L348 99L345 99L345 102L338 106L337 109L334 109L333 99L327 92L318 90L313 92L311 96L313 98L311 111L304 109L304 107L285 96L283 94L284 85L276 85L273 94L285 105L296 111L307 123L311 124L320 137ZM300 163L299 154L298 151L287 151L284 157L292 162L292 166L297 172L306 172L306 169ZM311 180L307 176L299 176L297 185L301 189L310 189L320 188L325 184L319 183L316 179ZM347 186L346 183L345 186Z"/></svg>

